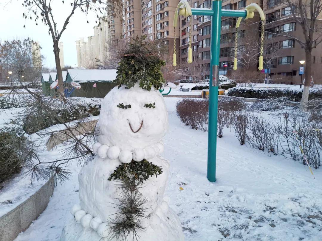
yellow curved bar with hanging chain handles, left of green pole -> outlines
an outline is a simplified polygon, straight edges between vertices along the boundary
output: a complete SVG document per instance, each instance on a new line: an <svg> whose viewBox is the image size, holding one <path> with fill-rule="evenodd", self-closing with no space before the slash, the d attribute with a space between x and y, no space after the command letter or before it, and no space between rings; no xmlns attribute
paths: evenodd
<svg viewBox="0 0 322 241"><path fill-rule="evenodd" d="M173 19L173 29L174 29L174 43L173 43L173 66L177 65L176 59L176 53L175 53L175 27L177 26L177 21L178 21L178 16L184 16L184 17L188 17L190 16L190 37L189 37L189 48L188 48L188 63L192 63L192 48L191 48L191 21L192 21L192 12L191 12L191 7L189 5L189 3L187 1L181 1L179 2L176 10L175 10L175 16Z"/></svg>

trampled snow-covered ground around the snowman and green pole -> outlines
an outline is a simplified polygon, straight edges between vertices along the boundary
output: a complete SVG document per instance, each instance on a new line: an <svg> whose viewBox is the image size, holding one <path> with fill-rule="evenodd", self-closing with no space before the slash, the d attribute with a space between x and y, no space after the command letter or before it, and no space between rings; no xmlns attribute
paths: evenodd
<svg viewBox="0 0 322 241"><path fill-rule="evenodd" d="M209 183L207 133L179 121L177 100L165 98L170 129L164 156L171 164L166 194L186 240L322 240L322 169L313 170L313 179L298 162L240 146L225 129L218 139L217 182ZM71 181L55 189L47 209L16 241L59 240L78 200L80 167L71 169Z"/></svg>

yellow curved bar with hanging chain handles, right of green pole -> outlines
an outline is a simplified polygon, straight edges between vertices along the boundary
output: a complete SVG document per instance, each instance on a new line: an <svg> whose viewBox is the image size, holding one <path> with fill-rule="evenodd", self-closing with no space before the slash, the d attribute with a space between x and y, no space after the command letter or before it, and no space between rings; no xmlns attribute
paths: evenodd
<svg viewBox="0 0 322 241"><path fill-rule="evenodd" d="M259 70L263 69L263 45L264 45L264 23L265 23L265 14L263 10L260 8L259 5L252 3L245 7L244 9L247 12L246 18L253 18L254 17L254 11L256 10L260 14L260 20L261 20L261 36L260 36L260 57L259 57ZM233 69L237 69L237 40L238 40L238 27L240 23L242 22L242 17L239 17L236 22L236 33L235 33L235 58L234 58L234 67Z"/></svg>

